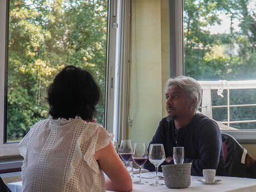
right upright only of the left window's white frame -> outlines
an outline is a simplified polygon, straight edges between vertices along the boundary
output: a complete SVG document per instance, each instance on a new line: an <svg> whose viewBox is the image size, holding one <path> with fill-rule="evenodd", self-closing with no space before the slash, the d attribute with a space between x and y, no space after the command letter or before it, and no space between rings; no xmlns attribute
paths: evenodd
<svg viewBox="0 0 256 192"><path fill-rule="evenodd" d="M109 1L107 69L105 91L105 127L119 140L119 90L120 90L120 53L122 50L123 1ZM111 40L111 41L109 41Z"/></svg>

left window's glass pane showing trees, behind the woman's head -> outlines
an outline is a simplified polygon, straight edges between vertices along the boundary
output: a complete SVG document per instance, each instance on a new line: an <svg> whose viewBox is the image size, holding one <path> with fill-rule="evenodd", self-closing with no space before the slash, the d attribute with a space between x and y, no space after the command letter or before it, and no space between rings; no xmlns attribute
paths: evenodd
<svg viewBox="0 0 256 192"><path fill-rule="evenodd" d="M7 142L48 117L46 88L66 65L93 73L102 90L95 118L103 124L106 38L107 0L9 1Z"/></svg>

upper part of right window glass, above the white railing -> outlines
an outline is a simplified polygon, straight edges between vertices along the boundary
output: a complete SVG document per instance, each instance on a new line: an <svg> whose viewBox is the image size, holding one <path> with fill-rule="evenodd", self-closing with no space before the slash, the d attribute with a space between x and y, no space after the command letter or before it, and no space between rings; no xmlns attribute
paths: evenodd
<svg viewBox="0 0 256 192"><path fill-rule="evenodd" d="M255 1L184 1L185 75L255 80Z"/></svg>

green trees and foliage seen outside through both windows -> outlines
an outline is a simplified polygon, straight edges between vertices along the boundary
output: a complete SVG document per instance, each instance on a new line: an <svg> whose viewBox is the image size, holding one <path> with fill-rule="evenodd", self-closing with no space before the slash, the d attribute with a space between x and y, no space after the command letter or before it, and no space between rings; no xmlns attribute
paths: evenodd
<svg viewBox="0 0 256 192"><path fill-rule="evenodd" d="M255 1L183 0L183 5L185 75L256 80ZM46 88L66 65L86 68L98 81L102 98L95 118L103 125L107 7L107 0L9 1L7 141L21 140L31 125L48 117ZM226 31L214 28L221 25ZM223 95L212 90L212 105L226 105L225 90ZM256 104L255 90L234 90L230 96L230 104ZM255 106L231 112L231 120L256 120ZM212 111L218 121L225 121L226 113ZM254 123L232 126L255 129Z"/></svg>

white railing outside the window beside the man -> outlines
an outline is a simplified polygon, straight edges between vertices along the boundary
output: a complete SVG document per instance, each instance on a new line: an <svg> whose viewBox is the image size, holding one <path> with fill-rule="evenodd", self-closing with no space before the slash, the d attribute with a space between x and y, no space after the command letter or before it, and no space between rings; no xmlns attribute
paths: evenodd
<svg viewBox="0 0 256 192"><path fill-rule="evenodd" d="M256 81L199 81L200 85L202 86L202 114L209 116L212 118L212 109L213 108L220 108L220 107L227 107L228 109L228 116L227 121L222 121L221 123L228 125L236 124L236 123L247 123L247 122L256 122L255 119L253 120L245 120L245 121L230 121L230 107L243 107L243 106L256 106L256 104L244 104L244 105L230 105L230 97L229 97L229 90L235 89L249 89L249 88L256 88ZM222 93L223 90L227 90L227 105L221 106L212 106L211 101L211 90L218 90L217 94L220 97L223 97Z"/></svg>

